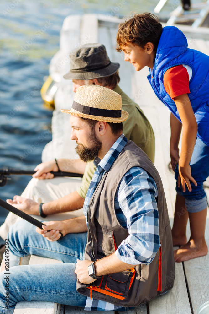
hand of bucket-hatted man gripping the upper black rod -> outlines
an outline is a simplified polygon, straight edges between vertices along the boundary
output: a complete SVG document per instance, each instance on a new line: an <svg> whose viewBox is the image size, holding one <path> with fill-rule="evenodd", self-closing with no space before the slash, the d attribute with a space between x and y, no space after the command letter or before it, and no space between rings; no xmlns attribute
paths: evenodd
<svg viewBox="0 0 209 314"><path fill-rule="evenodd" d="M34 171L36 171L33 175L34 178L38 178L40 180L52 179L54 178L54 175L50 173L50 171L58 171L58 167L53 159L37 165Z"/></svg>

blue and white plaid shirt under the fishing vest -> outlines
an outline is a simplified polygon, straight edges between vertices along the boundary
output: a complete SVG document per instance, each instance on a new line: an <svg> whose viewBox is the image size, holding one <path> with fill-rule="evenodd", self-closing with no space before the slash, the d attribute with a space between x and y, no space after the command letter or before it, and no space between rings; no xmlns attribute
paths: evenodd
<svg viewBox="0 0 209 314"><path fill-rule="evenodd" d="M127 143L122 134L101 160L94 160L97 169L91 180L83 212L86 216L89 203L102 176L109 171ZM152 262L160 247L158 209L155 181L140 167L129 169L123 176L115 196L115 211L120 224L128 229L129 236L115 254L119 260L128 264L146 264ZM121 308L114 304L87 297L85 311L114 311Z"/></svg>

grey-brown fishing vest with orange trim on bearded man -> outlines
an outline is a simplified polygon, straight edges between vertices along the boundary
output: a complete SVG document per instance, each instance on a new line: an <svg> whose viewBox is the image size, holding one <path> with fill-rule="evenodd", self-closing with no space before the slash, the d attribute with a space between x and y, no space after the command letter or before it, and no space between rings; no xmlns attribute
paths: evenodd
<svg viewBox="0 0 209 314"><path fill-rule="evenodd" d="M77 280L77 291L81 294L121 306L138 306L153 299L170 290L175 278L173 243L162 181L149 157L132 141L128 141L102 177L91 198L85 259L94 261L110 255L128 237L128 230L116 217L114 200L122 177L135 166L147 171L157 185L160 249L149 265L140 264L120 273L104 275L89 285Z"/></svg>

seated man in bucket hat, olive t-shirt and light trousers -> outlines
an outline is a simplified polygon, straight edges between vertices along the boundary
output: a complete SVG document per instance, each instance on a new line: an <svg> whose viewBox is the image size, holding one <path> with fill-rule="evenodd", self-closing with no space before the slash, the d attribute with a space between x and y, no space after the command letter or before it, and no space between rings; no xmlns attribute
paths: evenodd
<svg viewBox="0 0 209 314"><path fill-rule="evenodd" d="M75 92L81 85L92 84L105 86L121 95L122 108L129 113L128 119L123 122L123 132L154 162L154 132L143 111L118 86L119 66L119 63L109 60L104 45L86 44L71 51L70 71L64 78L73 80ZM78 183L67 178L55 178L50 182L32 179L22 197L15 196L13 200L7 202L28 214L41 215L42 218L82 208L96 169L95 165L89 162L86 166L86 163L81 160L51 160L35 168L37 172L34 178L51 179L53 175L49 172L58 171L58 166L60 171L84 173L81 187L76 188ZM44 204L40 205L40 203ZM6 237L8 233L6 224L0 228L0 235L2 233L3 237Z"/></svg>

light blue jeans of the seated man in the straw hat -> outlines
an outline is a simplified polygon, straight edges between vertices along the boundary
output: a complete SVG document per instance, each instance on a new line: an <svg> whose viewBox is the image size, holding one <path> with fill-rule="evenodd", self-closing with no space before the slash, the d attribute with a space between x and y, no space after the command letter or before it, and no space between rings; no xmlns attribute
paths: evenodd
<svg viewBox="0 0 209 314"><path fill-rule="evenodd" d="M76 259L84 259L87 233L67 234L62 240L50 242L35 232L27 221L18 221L9 231L9 255L29 254L50 257L64 263L15 266L0 273L0 314L12 314L20 301L48 301L85 307L86 296L76 291ZM9 276L9 309L7 306Z"/></svg>

